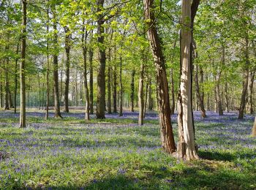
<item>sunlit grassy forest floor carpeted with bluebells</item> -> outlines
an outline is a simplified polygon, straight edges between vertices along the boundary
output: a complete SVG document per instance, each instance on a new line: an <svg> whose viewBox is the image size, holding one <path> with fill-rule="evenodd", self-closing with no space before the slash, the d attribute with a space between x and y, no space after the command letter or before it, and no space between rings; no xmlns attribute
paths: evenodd
<svg viewBox="0 0 256 190"><path fill-rule="evenodd" d="M1 110L0 151L9 153L0 189L256 189L254 116L207 114L194 113L201 159L187 162L162 151L157 113L138 126L138 113L85 123L83 110L45 121L43 110L30 109L20 129L19 115Z"/></svg>

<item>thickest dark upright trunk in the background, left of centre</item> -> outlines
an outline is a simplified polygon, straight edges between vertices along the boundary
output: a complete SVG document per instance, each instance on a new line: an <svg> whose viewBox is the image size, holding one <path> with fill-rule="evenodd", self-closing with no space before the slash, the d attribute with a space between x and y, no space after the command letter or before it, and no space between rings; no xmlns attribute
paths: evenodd
<svg viewBox="0 0 256 190"><path fill-rule="evenodd" d="M103 8L104 0L97 0L97 10L100 12ZM96 117L98 119L105 118L105 66L106 66L106 55L105 55L105 47L104 46L104 20L102 18L102 14L98 15L98 26L97 26L97 34L98 39L97 42L102 47L99 48L99 69L97 76L97 111Z"/></svg>

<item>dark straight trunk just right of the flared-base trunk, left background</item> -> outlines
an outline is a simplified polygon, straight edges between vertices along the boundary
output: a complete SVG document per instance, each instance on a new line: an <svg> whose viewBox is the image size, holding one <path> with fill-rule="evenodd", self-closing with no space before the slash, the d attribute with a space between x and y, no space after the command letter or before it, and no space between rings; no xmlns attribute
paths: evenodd
<svg viewBox="0 0 256 190"><path fill-rule="evenodd" d="M70 66L70 31L69 27L64 27L65 30L65 50L66 50L66 79L64 93L64 112L69 113L69 66Z"/></svg>

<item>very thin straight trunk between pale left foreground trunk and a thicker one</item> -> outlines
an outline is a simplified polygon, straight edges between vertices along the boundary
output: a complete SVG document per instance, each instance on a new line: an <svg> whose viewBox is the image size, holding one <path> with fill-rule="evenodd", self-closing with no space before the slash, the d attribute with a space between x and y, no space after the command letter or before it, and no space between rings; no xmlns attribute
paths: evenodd
<svg viewBox="0 0 256 190"><path fill-rule="evenodd" d="M49 7L47 8L47 25L46 25L47 34L49 34ZM45 105L45 119L48 120L49 117L49 98L50 98L50 87L49 87L49 72L50 72L50 63L49 63L49 39L47 37L46 42L46 51L47 51L47 70L46 70L46 105Z"/></svg>

